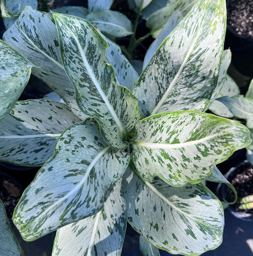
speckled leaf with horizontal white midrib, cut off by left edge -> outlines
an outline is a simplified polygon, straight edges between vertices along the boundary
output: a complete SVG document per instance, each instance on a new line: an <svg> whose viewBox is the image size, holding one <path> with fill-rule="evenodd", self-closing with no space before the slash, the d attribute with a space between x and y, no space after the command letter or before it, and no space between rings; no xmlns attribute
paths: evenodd
<svg viewBox="0 0 253 256"><path fill-rule="evenodd" d="M18 101L0 124L0 161L42 166L53 155L61 133L80 121L59 102Z"/></svg>

